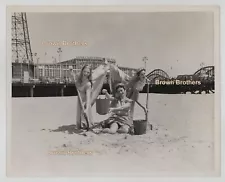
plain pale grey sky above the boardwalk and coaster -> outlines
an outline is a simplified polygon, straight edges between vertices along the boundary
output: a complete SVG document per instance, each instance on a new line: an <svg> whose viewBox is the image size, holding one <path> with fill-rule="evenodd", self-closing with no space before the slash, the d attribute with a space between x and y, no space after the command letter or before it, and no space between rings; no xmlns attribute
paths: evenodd
<svg viewBox="0 0 225 182"><path fill-rule="evenodd" d="M160 68L170 76L193 74L213 63L213 14L199 13L27 13L32 52L39 62L58 59L58 46L43 41L85 41L62 46L61 61L75 56L115 58L120 66ZM45 56L47 52L47 56Z"/></svg>

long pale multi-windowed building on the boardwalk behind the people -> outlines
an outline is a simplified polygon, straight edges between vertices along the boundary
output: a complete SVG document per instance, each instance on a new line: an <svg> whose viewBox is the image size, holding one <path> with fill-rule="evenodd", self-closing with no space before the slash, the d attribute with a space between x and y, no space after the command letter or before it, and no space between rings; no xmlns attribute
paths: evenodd
<svg viewBox="0 0 225 182"><path fill-rule="evenodd" d="M102 57L75 57L74 59L70 59L67 61L48 64L41 63L28 65L25 63L13 63L12 77L22 79L23 72L29 70L30 78L36 79L48 78L48 79L65 80L69 79L69 70L71 68L73 69L75 74L77 74L80 72L81 68L84 65L88 64L92 67L92 69L95 69L99 65L104 64L105 60L107 60L111 64L116 64L115 59ZM119 67L119 68L129 76L133 76L136 72L136 69L134 68L128 67Z"/></svg>

